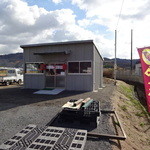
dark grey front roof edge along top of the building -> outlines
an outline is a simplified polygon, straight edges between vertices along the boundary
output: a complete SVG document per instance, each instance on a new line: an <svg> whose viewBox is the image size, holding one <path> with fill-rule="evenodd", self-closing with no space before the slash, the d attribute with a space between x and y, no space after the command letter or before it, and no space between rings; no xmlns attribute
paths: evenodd
<svg viewBox="0 0 150 150"><path fill-rule="evenodd" d="M63 45L63 44L82 44L82 43L93 43L93 40L81 40L81 41L66 41L66 42L54 42L54 43L27 44L27 45L20 45L20 47L21 47L21 48L27 48L27 47L37 47L37 46Z"/></svg>

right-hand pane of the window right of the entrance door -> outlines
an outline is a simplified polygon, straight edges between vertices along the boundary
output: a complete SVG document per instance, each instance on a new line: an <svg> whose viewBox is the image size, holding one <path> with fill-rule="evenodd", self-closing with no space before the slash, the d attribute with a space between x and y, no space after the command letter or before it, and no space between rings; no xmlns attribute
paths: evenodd
<svg viewBox="0 0 150 150"><path fill-rule="evenodd" d="M80 73L91 73L91 62L80 62Z"/></svg>

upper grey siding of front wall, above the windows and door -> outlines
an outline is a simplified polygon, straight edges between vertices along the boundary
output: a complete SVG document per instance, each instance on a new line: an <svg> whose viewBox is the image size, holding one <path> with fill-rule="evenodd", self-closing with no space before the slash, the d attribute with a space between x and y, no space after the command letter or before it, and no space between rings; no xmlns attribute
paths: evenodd
<svg viewBox="0 0 150 150"><path fill-rule="evenodd" d="M68 45L51 45L25 48L24 61L25 62L65 62L77 60L91 60L92 59L92 43L86 44L68 44ZM69 55L64 54L47 54L34 55L34 53L49 52L49 51L71 51Z"/></svg>

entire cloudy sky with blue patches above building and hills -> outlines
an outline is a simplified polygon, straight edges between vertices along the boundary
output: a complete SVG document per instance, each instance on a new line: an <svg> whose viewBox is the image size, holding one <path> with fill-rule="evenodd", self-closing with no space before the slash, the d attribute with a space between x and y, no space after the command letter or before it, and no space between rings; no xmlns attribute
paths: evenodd
<svg viewBox="0 0 150 150"><path fill-rule="evenodd" d="M102 57L113 58L117 30L117 57L128 59L133 29L133 58L139 58L136 48L150 46L149 0L122 2L1 0L0 54L22 52L22 44L93 39Z"/></svg>

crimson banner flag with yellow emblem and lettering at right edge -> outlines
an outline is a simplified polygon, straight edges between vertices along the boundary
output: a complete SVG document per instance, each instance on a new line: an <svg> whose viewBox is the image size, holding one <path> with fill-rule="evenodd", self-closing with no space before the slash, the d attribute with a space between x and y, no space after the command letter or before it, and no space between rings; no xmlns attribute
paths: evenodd
<svg viewBox="0 0 150 150"><path fill-rule="evenodd" d="M140 55L148 111L150 112L150 47L138 48Z"/></svg>

